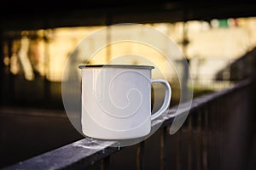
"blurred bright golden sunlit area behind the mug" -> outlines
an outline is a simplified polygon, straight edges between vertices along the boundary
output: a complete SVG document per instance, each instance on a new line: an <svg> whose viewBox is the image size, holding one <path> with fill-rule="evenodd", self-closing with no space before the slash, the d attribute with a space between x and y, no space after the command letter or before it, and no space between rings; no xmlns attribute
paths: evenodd
<svg viewBox="0 0 256 170"><path fill-rule="evenodd" d="M217 71L256 46L256 18L212 20L211 22L195 20L186 23L155 23L148 26L154 27L177 42L178 48L184 50L186 58L190 60L192 76L199 79L213 79ZM4 64L10 65L10 71L15 75L23 72L26 80L33 80L38 74L46 76L49 81L61 82L69 54L84 37L101 28L102 26L86 26L22 31L20 39L13 39L11 54L8 52L7 43L4 43ZM136 28L119 26L119 31L115 32L115 35L122 37L127 29ZM9 38L12 38L10 35L13 34L13 31L6 33ZM32 34L36 35L32 37ZM143 36L143 32L134 36ZM108 36L102 37L102 41L108 42L109 38L111 39ZM146 38L150 39L150 37ZM184 38L187 38L185 45ZM81 63L90 59L90 64L107 64L117 62L118 58L123 57L123 61L131 64L145 64L142 58L125 59L124 56L124 54L137 55L154 60L154 65L157 65L163 74L171 70L175 72L172 65L166 65L165 57L157 50L135 42L111 44L107 48L99 49L94 56L86 56L86 51L95 51L96 43L96 40L90 39L90 45L80 51L84 53L79 58ZM168 50L165 43L160 45L162 49ZM173 76L175 77L175 74ZM169 78L172 79L172 77Z"/></svg>

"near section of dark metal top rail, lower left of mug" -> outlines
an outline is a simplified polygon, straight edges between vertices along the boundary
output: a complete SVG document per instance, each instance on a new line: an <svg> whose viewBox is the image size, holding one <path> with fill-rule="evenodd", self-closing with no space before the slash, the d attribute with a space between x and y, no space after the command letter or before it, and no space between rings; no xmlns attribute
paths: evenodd
<svg viewBox="0 0 256 170"><path fill-rule="evenodd" d="M118 151L118 148L110 147L112 144L114 142L81 139L5 169L82 169Z"/></svg>

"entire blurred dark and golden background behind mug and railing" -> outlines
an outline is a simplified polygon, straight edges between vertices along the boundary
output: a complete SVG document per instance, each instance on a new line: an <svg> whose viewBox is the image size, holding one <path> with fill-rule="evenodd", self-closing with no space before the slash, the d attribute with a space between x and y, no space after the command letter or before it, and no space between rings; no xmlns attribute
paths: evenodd
<svg viewBox="0 0 256 170"><path fill-rule="evenodd" d="M256 3L251 1L44 0L33 4L10 0L1 2L1 9L0 167L83 138L67 119L62 104L62 74L79 42L104 26L140 23L172 38L189 62L194 86L192 82L188 86L194 98L253 75ZM117 34L125 34L125 29L120 26ZM102 37L102 41L109 38ZM95 50L96 40L90 41L87 50ZM148 59L159 56L154 61L175 89L171 106L177 105L180 87L175 71L163 66L161 54L141 44L116 44L80 63L104 64L112 56L135 51ZM139 59L131 62L141 64ZM178 63L176 67L182 70Z"/></svg>

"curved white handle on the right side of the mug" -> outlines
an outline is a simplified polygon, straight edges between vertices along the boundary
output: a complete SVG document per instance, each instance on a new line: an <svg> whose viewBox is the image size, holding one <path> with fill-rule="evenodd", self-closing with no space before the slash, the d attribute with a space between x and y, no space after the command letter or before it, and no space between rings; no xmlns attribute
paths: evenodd
<svg viewBox="0 0 256 170"><path fill-rule="evenodd" d="M163 105L161 106L160 110L156 111L151 116L151 121L156 119L157 117L159 117L161 114L163 114L166 111L166 109L170 105L171 96L172 96L172 89L171 89L171 86L170 86L169 82L167 82L166 80L163 80L163 79L151 80L151 83L153 83L153 82L160 82L161 84L163 84L165 86L165 88L166 88L166 96L165 96L165 101L164 101Z"/></svg>

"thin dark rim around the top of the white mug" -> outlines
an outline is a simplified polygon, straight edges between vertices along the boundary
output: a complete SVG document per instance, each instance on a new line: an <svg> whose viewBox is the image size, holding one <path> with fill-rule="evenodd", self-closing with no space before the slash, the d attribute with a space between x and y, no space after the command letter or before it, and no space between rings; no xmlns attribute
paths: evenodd
<svg viewBox="0 0 256 170"><path fill-rule="evenodd" d="M79 69L92 68L92 67L106 67L106 68L125 68L125 69L154 69L150 65L79 65Z"/></svg>

